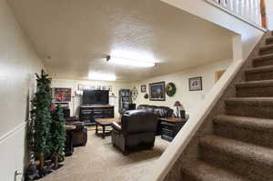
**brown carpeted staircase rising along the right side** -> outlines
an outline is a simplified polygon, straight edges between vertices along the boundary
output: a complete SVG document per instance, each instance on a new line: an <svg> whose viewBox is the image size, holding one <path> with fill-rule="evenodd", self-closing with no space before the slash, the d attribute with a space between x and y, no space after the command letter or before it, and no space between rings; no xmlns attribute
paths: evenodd
<svg viewBox="0 0 273 181"><path fill-rule="evenodd" d="M198 157L182 165L182 181L273 181L273 34L270 33L214 116L213 135L197 139Z"/></svg>

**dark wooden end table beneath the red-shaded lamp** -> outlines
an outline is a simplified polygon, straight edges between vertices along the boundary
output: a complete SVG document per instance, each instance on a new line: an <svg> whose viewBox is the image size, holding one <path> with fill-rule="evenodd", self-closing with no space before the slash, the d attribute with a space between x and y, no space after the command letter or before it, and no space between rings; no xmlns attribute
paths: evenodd
<svg viewBox="0 0 273 181"><path fill-rule="evenodd" d="M160 118L161 138L167 141L172 141L186 122L187 119L182 118Z"/></svg>

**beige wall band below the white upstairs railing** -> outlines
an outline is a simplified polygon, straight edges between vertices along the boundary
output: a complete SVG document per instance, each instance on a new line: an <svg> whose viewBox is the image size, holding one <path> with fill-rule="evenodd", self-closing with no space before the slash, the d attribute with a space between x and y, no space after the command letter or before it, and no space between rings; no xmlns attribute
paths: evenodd
<svg viewBox="0 0 273 181"><path fill-rule="evenodd" d="M265 32L241 21L233 15L208 4L206 0L161 0L169 5L174 5L179 9L187 11L192 15L197 15L209 22L227 28L240 35L241 42L238 42L242 47L242 60L245 60L254 46L258 43L259 38ZM269 0L271 1L271 0ZM234 56L235 57L235 56ZM240 61L242 61L240 60Z"/></svg>

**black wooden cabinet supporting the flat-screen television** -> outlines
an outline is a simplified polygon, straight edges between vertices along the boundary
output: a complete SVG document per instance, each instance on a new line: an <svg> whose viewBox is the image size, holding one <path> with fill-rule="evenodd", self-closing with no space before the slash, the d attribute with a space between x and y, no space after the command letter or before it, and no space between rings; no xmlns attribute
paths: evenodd
<svg viewBox="0 0 273 181"><path fill-rule="evenodd" d="M114 106L81 106L79 119L86 126L96 125L96 118L114 117Z"/></svg>

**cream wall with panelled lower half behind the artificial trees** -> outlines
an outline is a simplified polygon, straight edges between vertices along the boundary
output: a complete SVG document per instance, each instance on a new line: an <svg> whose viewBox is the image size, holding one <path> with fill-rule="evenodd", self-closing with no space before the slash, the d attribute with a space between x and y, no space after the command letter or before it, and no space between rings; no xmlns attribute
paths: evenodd
<svg viewBox="0 0 273 181"><path fill-rule="evenodd" d="M25 120L35 91L35 72L43 67L5 0L0 0L0 176L14 181L23 171ZM17 179L19 180L19 179Z"/></svg>

